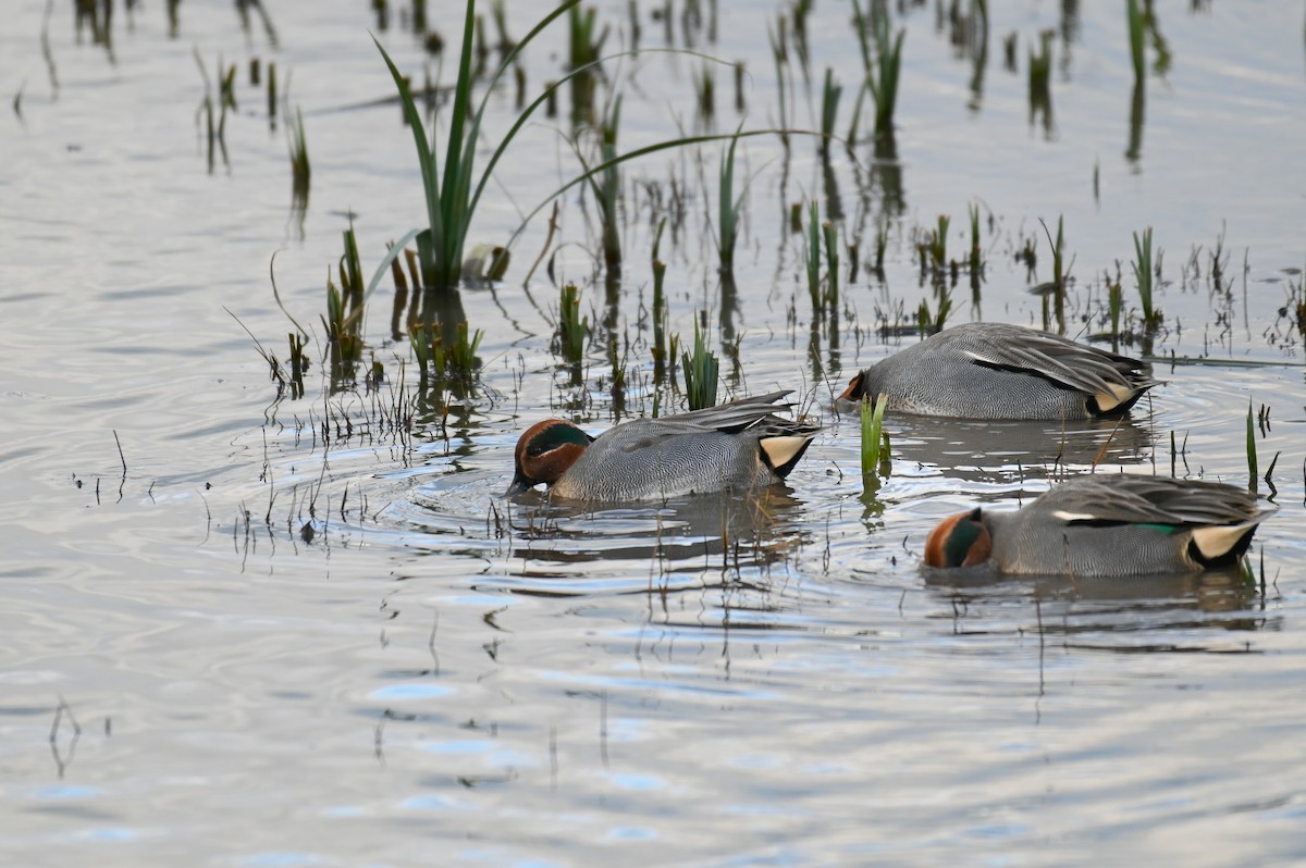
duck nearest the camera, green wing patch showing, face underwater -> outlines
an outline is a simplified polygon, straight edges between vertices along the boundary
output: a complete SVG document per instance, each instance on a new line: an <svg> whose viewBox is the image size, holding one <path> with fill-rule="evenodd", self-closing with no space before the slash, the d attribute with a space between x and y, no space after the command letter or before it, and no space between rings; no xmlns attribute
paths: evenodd
<svg viewBox="0 0 1306 868"><path fill-rule="evenodd" d="M1196 573L1238 564L1272 512L1217 482L1075 476L1016 512L976 506L944 519L925 544L925 563L1012 574Z"/></svg>

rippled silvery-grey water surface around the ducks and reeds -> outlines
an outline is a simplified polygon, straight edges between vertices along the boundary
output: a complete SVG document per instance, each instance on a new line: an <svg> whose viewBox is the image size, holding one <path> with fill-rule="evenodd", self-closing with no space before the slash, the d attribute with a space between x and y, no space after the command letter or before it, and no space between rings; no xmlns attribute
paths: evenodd
<svg viewBox="0 0 1306 868"><path fill-rule="evenodd" d="M836 68L846 128L859 67L850 10L818 7L812 80ZM449 12L434 23L452 42ZM221 5L180 7L176 38L161 7L118 9L111 56L78 42L59 4L48 30L57 93L43 13L17 3L0 34L0 81L21 91L21 116L0 121L5 864L1306 858L1306 410L1302 335L1280 313L1301 300L1306 217L1294 187L1306 133L1297 4L1157 4L1173 59L1148 81L1134 157L1118 9L1070 20L1047 4L994 9L978 97L972 60L932 9L914 10L897 116L902 210L885 281L863 268L845 288L837 347L828 332L811 337L788 204L818 193L823 215L842 209L865 257L885 209L867 145L861 166L836 147L827 176L811 141L795 137L786 162L774 138L747 140L733 312L720 302L692 154L631 167L619 332L637 334L650 304L656 202L674 175L688 198L662 241L671 329L688 334L708 308L713 329L724 321L739 339L738 367L722 354L727 388L798 389L828 427L788 492L598 513L496 496L525 424L564 406L585 407L592 429L614 415L603 349L588 356L586 388L569 386L549 350L556 290L542 271L521 288L543 218L502 286L464 292L486 330L483 390L454 402L447 424L422 406L411 432L387 423L411 386L396 360L406 347L385 342L388 290L367 335L389 385L325 397L315 367L307 398L274 401L240 325L285 356L291 326L272 295L273 253L287 308L320 326L346 213L364 264L422 215L397 107L366 104L390 94L366 4L273 9L276 46L257 18L246 31ZM520 4L509 31L524 34L534 14ZM746 61L748 127L777 123L769 14L724 4L729 26L716 43L695 42ZM626 5L599 17L615 47ZM641 44L661 46L661 22L646 9L641 21ZM1028 47L1043 27L1058 30L1050 132L1027 106ZM1000 46L1012 31L1016 73ZM397 17L384 39L405 69L419 68ZM562 39L526 54L532 87L560 74ZM219 56L240 64L231 164L213 175L195 120L195 51L210 78ZM269 131L246 81L253 56L293 70L313 164L302 219L283 129ZM623 63L623 147L666 138L673 111L699 123L696 64ZM730 131L727 72L717 86L716 129ZM511 90L491 101L490 141L511 123ZM795 127L816 123L808 104L799 95ZM518 208L573 172L565 127L525 131L474 240L502 239ZM703 154L709 187L717 153ZM913 339L883 339L878 318L899 305L909 317L922 298L935 307L913 239L949 214L948 249L963 256L970 202L982 205L987 269L978 304L963 275L952 321L1041 324L1025 288L1050 278L1038 221L1055 231L1060 217L1076 281L1067 330L1100 330L1102 275L1119 268L1135 305L1132 232L1152 226L1166 313L1153 351L1177 362L1157 363L1165 385L1121 429L891 418L893 473L866 499L855 424L825 407L854 369ZM598 322L589 213L564 204L555 273L581 282ZM1030 239L1033 274L1012 258ZM1194 358L1204 363L1185 362ZM627 411L648 412L646 347L627 364ZM1100 471L1246 484L1249 402L1269 406L1262 474L1279 453L1280 512L1256 536L1254 583L919 570L939 517L1013 505L1098 456Z"/></svg>

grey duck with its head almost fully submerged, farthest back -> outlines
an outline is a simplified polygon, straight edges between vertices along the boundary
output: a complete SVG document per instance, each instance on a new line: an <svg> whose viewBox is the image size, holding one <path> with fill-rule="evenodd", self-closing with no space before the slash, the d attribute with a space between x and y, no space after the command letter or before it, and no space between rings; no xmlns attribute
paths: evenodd
<svg viewBox="0 0 1306 868"><path fill-rule="evenodd" d="M859 371L835 402L959 419L1117 419L1157 385L1145 362L1006 322L966 322Z"/></svg>

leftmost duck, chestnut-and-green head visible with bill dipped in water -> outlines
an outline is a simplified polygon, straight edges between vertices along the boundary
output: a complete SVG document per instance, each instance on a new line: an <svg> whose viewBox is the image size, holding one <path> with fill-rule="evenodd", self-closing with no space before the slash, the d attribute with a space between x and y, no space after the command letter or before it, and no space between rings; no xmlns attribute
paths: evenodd
<svg viewBox="0 0 1306 868"><path fill-rule="evenodd" d="M546 419L517 440L512 497L543 483L550 497L623 503L713 491L750 491L784 480L819 426L784 419L771 392L656 419L632 419L597 437Z"/></svg>

